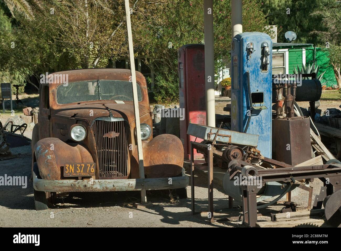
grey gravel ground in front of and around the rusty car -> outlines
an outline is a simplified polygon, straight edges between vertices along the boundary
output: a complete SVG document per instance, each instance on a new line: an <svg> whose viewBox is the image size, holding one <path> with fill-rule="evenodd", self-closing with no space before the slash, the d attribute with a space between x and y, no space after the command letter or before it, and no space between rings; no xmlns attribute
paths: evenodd
<svg viewBox="0 0 341 251"><path fill-rule="evenodd" d="M228 114L223 107L231 103L227 97L216 98L216 113ZM301 104L302 103L302 104ZM306 104L307 103L307 104ZM321 101L322 111L327 108L339 108L340 102ZM308 107L308 102L300 102L300 106ZM320 108L321 108L320 107ZM1 117L2 121L7 118ZM31 138L32 131L25 136ZM139 192L116 193L74 193L58 199L58 204L49 210L35 211L31 177L30 146L11 149L17 157L0 161L0 176L26 176L27 188L21 186L0 186L0 227L242 227L233 222L209 223L199 215L191 214L191 186L187 187L188 199L170 202L166 192L147 191L147 198L153 203L150 208L136 209L132 203L138 202ZM196 211L207 209L207 178L195 178ZM214 208L227 208L228 200L220 186L214 185ZM311 183L313 199L319 193L322 182ZM307 191L298 190L293 193L292 201L300 207L307 206ZM284 198L283 198L284 199ZM269 215L272 210L280 210L281 202L261 210ZM226 214L215 214L217 218ZM230 216L239 216L239 212L231 212ZM258 217L258 220L270 220L269 216Z"/></svg>

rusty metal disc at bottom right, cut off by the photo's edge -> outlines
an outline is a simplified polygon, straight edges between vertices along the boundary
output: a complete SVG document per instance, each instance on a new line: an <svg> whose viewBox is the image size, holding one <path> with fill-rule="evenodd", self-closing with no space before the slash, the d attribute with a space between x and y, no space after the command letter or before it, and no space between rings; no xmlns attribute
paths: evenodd
<svg viewBox="0 0 341 251"><path fill-rule="evenodd" d="M333 227L341 228L341 190L327 196L323 205L328 222Z"/></svg>

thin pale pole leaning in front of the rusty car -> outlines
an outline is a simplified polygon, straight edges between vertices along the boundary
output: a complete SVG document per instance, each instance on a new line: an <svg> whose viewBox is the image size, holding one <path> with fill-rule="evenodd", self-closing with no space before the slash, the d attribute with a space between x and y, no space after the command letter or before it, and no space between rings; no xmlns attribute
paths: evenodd
<svg viewBox="0 0 341 251"><path fill-rule="evenodd" d="M137 98L137 87L136 87L136 73L135 73L135 60L134 60L134 47L133 47L133 35L131 32L131 21L130 21L130 8L129 0L124 0L125 4L125 18L127 20L127 33L128 33L128 45L129 45L129 60L131 70L131 81L133 85L133 101L134 101L134 113L135 113L135 126L136 126L136 139L137 139L137 152L138 152L138 168L141 179L145 178L145 168L143 164L143 152L142 152L142 141L141 141L141 128L140 128L140 114L138 110L138 98ZM141 202L147 203L146 190L141 190Z"/></svg>

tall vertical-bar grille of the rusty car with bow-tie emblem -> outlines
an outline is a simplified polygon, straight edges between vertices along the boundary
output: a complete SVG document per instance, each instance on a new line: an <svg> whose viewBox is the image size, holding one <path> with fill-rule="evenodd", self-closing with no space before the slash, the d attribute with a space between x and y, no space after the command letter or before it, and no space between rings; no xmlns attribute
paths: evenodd
<svg viewBox="0 0 341 251"><path fill-rule="evenodd" d="M127 177L130 132L128 122L95 120L91 128L96 140L99 178Z"/></svg>

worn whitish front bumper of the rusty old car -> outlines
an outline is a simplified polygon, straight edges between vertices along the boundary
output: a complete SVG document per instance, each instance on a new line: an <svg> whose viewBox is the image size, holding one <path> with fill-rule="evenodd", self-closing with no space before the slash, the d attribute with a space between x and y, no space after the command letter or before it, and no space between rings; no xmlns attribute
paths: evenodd
<svg viewBox="0 0 341 251"><path fill-rule="evenodd" d="M116 180L43 180L33 176L33 187L45 192L105 192L162 190L187 187L189 177L152 178L152 179L116 179ZM171 183L171 184L169 184Z"/></svg>

